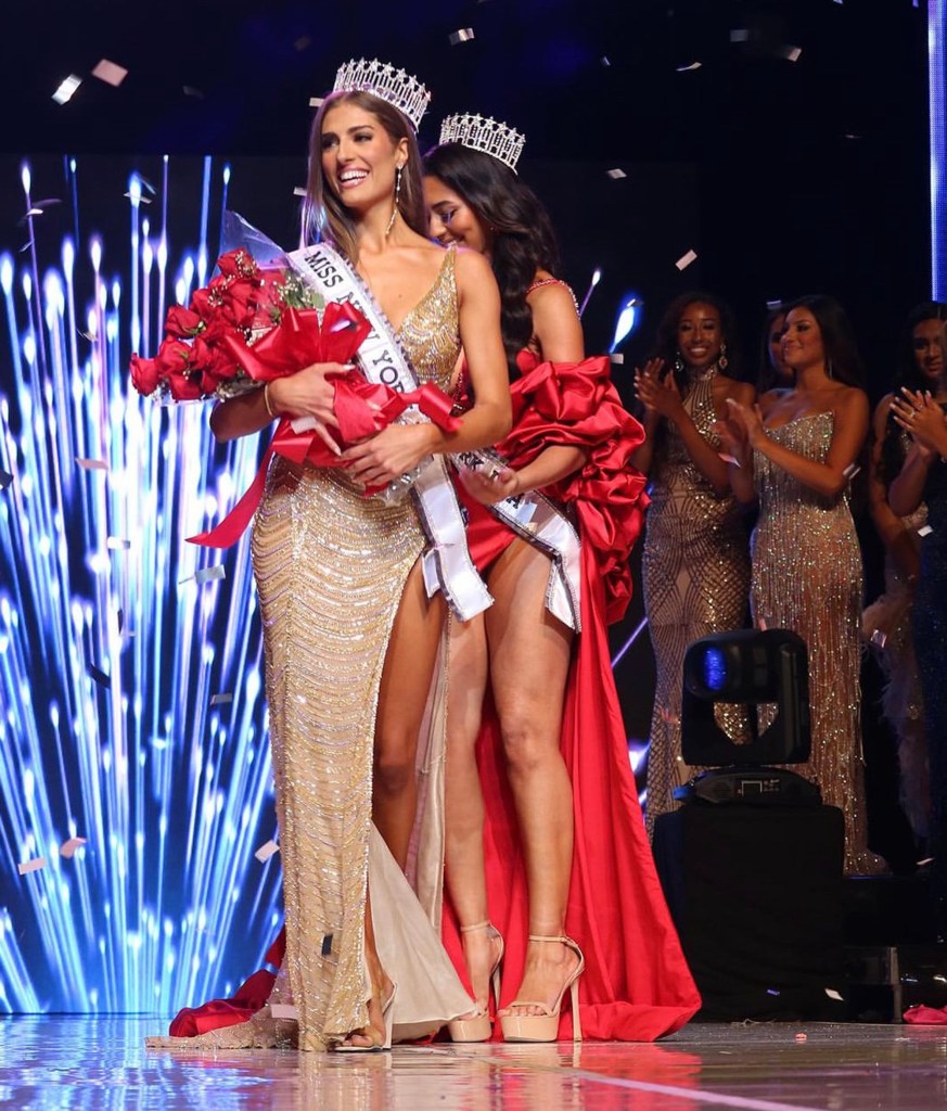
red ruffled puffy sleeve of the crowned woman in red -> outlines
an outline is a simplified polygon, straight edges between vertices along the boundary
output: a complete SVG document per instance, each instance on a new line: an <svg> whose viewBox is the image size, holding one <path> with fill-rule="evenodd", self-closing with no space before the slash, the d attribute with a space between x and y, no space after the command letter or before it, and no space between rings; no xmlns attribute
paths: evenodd
<svg viewBox="0 0 947 1111"><path fill-rule="evenodd" d="M523 352L518 364L522 377L511 386L513 430L496 449L517 469L553 444L588 452L581 471L543 492L575 507L583 543L602 577L611 624L624 617L632 597L628 556L648 504L645 476L631 463L644 429L622 406L607 356L537 362Z"/></svg>

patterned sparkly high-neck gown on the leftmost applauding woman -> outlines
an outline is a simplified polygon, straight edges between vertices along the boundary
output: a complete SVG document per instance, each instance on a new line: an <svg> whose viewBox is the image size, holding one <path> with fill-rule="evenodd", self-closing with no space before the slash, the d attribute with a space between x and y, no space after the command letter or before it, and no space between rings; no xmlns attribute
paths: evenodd
<svg viewBox="0 0 947 1111"><path fill-rule="evenodd" d="M717 368L696 379L684 408L705 440L719 447L712 398ZM676 808L673 791L699 771L681 755L681 692L687 645L745 624L749 590L746 530L732 494L718 496L694 464L676 428L665 422L664 452L649 489L644 559L645 612L656 665L645 819ZM721 724L742 737L743 711L717 708Z"/></svg>

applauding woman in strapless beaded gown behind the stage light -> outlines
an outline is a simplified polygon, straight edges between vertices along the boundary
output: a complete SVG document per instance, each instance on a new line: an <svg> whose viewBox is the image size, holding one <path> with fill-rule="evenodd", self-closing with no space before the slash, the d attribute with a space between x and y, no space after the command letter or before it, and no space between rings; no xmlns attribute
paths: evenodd
<svg viewBox="0 0 947 1111"><path fill-rule="evenodd" d="M808 647L813 751L799 772L845 814L847 872L883 865L866 844L858 689L862 553L848 487L868 432L868 399L848 318L828 297L786 307L790 390L729 403L718 432L737 498L758 499L753 617Z"/></svg>

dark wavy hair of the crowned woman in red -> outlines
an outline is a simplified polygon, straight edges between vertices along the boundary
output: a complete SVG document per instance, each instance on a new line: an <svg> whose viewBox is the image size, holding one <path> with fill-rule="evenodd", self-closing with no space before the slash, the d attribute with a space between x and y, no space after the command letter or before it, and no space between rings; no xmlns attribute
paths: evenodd
<svg viewBox="0 0 947 1111"><path fill-rule="evenodd" d="M506 359L533 338L533 314L526 290L537 270L557 276L556 237L540 199L498 159L449 142L424 156L424 173L452 189L483 224L501 297L501 329Z"/></svg>

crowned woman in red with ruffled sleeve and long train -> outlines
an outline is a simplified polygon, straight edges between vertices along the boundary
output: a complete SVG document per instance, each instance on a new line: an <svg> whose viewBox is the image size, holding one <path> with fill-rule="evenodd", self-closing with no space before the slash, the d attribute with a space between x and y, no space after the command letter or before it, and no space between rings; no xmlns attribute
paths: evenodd
<svg viewBox="0 0 947 1111"><path fill-rule="evenodd" d="M441 140L425 158L430 230L493 266L514 412L505 466L460 472L495 602L452 627L444 935L477 1001L452 1034L491 1035L502 970L507 1040L649 1041L699 997L645 835L605 631L631 595L646 500L628 460L644 433L608 359L584 358L548 218L515 173L523 137L464 116Z"/></svg>

